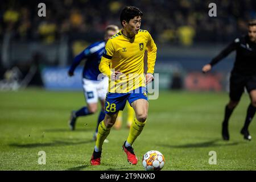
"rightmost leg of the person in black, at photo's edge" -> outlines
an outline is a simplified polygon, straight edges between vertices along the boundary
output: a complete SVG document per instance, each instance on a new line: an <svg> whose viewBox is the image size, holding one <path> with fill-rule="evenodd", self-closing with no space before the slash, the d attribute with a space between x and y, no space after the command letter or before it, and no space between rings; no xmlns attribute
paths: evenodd
<svg viewBox="0 0 256 182"><path fill-rule="evenodd" d="M256 77L251 77L249 82L246 84L246 89L250 94L251 103L247 108L247 114L245 118L245 123L241 130L241 134L243 135L244 139L251 140L251 136L249 133L249 125L251 120L253 119L256 111Z"/></svg>

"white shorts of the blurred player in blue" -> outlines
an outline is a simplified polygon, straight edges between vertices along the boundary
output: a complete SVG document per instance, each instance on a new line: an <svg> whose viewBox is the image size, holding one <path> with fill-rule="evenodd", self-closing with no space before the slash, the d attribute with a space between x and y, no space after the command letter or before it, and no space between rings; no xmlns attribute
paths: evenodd
<svg viewBox="0 0 256 182"><path fill-rule="evenodd" d="M82 78L82 88L87 104L97 103L98 99L105 100L106 98L109 89L109 78L104 77L100 81Z"/></svg>

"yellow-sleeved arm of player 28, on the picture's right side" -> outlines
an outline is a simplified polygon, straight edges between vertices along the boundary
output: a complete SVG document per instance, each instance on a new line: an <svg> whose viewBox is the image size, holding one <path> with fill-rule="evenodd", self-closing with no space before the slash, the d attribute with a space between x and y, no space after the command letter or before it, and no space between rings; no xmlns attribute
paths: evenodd
<svg viewBox="0 0 256 182"><path fill-rule="evenodd" d="M152 39L151 35L148 33L146 84L154 80L153 73L155 69L156 50L156 44Z"/></svg>

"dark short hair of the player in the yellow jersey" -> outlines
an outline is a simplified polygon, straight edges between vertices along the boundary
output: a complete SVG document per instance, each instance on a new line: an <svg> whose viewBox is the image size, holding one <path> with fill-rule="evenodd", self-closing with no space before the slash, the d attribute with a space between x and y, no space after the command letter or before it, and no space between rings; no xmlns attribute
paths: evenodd
<svg viewBox="0 0 256 182"><path fill-rule="evenodd" d="M133 19L135 16L143 16L143 13L138 7L134 6L126 6L120 15L120 21L122 24L122 21L125 20L126 22L129 22L130 19ZM123 24L122 24L123 26Z"/></svg>

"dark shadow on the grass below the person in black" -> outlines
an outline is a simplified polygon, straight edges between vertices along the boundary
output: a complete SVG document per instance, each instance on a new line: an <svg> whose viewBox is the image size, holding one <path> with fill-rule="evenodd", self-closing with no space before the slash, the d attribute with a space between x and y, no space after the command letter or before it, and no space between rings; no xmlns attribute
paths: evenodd
<svg viewBox="0 0 256 182"><path fill-rule="evenodd" d="M239 142L232 142L232 143L217 143L223 141L221 139L214 139L207 142L200 142L200 143L187 143L187 144L181 144L181 145L167 145L163 144L161 146L164 147L171 147L171 148L201 148L201 147L226 147L226 146L235 146L239 144Z"/></svg>

